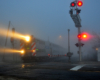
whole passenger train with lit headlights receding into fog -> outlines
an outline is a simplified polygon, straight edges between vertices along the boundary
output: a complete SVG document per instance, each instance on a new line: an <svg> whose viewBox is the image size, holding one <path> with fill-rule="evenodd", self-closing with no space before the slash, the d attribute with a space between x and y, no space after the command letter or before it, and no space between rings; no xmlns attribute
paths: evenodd
<svg viewBox="0 0 100 80"><path fill-rule="evenodd" d="M35 38L33 35L30 36L29 42L20 40L20 50L22 51L21 59L24 62L66 56L65 48L49 41Z"/></svg>

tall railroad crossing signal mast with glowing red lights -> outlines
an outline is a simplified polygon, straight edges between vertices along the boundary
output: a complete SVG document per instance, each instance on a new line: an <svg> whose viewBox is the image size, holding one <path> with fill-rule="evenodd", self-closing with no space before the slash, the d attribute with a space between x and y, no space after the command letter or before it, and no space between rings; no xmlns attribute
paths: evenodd
<svg viewBox="0 0 100 80"><path fill-rule="evenodd" d="M81 18L79 16L79 13L81 12L81 9L78 9L78 7L81 7L82 5L83 5L82 1L75 0L75 1L71 2L71 4L70 4L71 9L69 11L70 16L71 16L72 20L75 23L75 27L78 28L78 36L77 36L78 37L78 43L76 43L75 45L77 47L79 47L79 60L80 61L81 61L81 46L83 46L84 44L81 43L82 35L81 35L80 28L82 26L81 26Z"/></svg>

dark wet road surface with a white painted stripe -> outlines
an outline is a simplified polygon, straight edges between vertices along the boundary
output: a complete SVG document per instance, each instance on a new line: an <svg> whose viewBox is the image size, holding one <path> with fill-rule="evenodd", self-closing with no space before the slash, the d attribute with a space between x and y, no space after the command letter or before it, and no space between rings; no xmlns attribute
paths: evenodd
<svg viewBox="0 0 100 80"><path fill-rule="evenodd" d="M100 62L0 63L1 80L100 80Z"/></svg>

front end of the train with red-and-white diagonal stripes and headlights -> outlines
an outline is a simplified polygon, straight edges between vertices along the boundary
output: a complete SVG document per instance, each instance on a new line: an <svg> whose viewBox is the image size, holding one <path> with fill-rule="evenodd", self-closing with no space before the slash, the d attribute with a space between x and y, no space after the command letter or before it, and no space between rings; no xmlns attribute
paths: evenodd
<svg viewBox="0 0 100 80"><path fill-rule="evenodd" d="M36 56L36 43L33 35L26 36L20 40L20 50L22 60L30 60L32 56Z"/></svg>

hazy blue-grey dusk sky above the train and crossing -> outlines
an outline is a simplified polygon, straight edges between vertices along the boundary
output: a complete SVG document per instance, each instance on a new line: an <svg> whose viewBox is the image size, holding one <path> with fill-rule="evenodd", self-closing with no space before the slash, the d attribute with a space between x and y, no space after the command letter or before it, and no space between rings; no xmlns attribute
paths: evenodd
<svg viewBox="0 0 100 80"><path fill-rule="evenodd" d="M72 1L74 0L0 0L0 24L7 28L10 20L17 32L33 34L42 40L48 40L49 36L51 42L66 48L67 29L70 29L71 49L77 49L74 44L78 42L78 32L69 14ZM81 30L90 34L92 31L100 32L100 0L82 1ZM86 47L89 41L84 43Z"/></svg>

